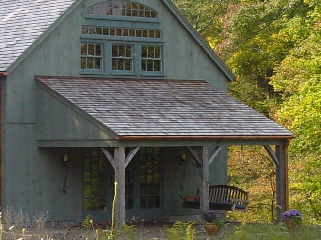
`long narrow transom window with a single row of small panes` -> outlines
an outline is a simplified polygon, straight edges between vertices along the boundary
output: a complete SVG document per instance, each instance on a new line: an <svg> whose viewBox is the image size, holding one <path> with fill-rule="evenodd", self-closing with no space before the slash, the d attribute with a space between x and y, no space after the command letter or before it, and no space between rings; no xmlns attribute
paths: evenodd
<svg viewBox="0 0 321 240"><path fill-rule="evenodd" d="M161 38L161 30L152 30L152 29L128 29L128 28L82 26L82 33L90 34L90 35L104 35L104 36Z"/></svg>

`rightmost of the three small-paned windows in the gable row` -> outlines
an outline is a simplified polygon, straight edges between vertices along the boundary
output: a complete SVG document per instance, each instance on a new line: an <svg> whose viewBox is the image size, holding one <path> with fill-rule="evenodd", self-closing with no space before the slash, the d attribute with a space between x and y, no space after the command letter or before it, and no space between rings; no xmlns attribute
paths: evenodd
<svg viewBox="0 0 321 240"><path fill-rule="evenodd" d="M142 46L142 71L160 72L161 69L161 47L143 45Z"/></svg>

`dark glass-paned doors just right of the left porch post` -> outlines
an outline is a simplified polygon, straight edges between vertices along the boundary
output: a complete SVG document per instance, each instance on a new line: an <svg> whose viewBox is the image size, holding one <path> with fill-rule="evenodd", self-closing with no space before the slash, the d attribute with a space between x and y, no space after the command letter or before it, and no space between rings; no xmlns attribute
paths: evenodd
<svg viewBox="0 0 321 240"><path fill-rule="evenodd" d="M153 219L163 216L161 150L162 148L141 148L126 169L128 219ZM133 208L130 208L132 197Z"/></svg>

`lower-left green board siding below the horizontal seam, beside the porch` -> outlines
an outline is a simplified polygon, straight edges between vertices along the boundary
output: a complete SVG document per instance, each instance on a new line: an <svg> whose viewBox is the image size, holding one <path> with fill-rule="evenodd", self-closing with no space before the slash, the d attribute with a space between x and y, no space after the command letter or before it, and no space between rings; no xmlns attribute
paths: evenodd
<svg viewBox="0 0 321 240"><path fill-rule="evenodd" d="M82 219L81 161L69 153L66 193L63 193L66 168L62 166L63 150L37 149L35 124L8 124L2 158L2 204L22 209L31 217L47 212L50 220ZM29 141L26 141L29 140ZM33 139L33 140L31 140Z"/></svg>

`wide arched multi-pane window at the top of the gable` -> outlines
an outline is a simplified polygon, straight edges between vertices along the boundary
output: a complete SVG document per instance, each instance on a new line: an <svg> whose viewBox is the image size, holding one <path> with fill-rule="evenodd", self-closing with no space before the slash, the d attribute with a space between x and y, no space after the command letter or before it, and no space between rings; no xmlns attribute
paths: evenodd
<svg viewBox="0 0 321 240"><path fill-rule="evenodd" d="M105 1L88 8L88 14L157 18L157 13L131 1Z"/></svg>

